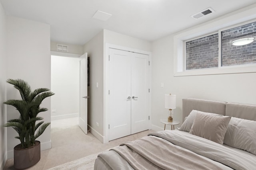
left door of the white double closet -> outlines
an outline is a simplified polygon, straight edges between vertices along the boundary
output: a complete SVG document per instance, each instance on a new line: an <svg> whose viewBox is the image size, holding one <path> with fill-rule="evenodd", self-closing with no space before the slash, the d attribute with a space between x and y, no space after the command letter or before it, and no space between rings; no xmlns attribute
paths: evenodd
<svg viewBox="0 0 256 170"><path fill-rule="evenodd" d="M109 49L109 138L131 134L131 57L128 51ZM131 97L131 96L130 96Z"/></svg>

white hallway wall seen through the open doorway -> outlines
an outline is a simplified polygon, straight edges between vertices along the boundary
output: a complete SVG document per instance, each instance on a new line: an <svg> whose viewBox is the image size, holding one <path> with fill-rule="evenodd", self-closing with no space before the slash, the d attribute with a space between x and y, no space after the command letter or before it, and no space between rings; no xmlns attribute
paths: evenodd
<svg viewBox="0 0 256 170"><path fill-rule="evenodd" d="M52 120L79 115L79 61L72 57L51 57Z"/></svg>

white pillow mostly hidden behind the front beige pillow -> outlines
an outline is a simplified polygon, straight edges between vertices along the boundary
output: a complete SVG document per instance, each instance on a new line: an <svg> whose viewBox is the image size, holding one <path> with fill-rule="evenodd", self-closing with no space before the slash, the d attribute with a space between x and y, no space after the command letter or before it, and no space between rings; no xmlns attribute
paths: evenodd
<svg viewBox="0 0 256 170"><path fill-rule="evenodd" d="M194 119L195 119L197 113L208 114L208 115L215 115L215 116L222 116L222 115L218 115L218 114L215 114L215 113L207 113L207 112L203 112L203 111L192 110L189 113L188 117L182 123L181 127L177 128L177 129L180 130L180 131L190 132L190 129L192 127L192 124L194 122Z"/></svg>

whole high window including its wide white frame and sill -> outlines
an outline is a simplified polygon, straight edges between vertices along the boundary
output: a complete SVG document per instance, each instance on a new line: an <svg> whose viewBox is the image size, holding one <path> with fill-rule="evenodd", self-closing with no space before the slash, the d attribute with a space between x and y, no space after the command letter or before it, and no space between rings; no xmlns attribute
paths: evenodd
<svg viewBox="0 0 256 170"><path fill-rule="evenodd" d="M228 14L220 18L216 18L215 20L206 22L204 24L197 25L191 27L190 29L175 33L173 35L172 54L174 76L256 72L255 10L256 7L236 11L231 15ZM241 29L238 28L244 30L239 31ZM237 30L234 30L233 33L230 33L233 29ZM234 35L234 33L236 33L235 31L238 31L237 35ZM186 47L186 45L189 45L187 42L211 36L216 33L218 33L218 66L209 65L209 67L201 66L201 68L197 66L194 66L194 68L189 66L189 64L192 63L192 61L190 61L192 60L192 58L189 57L193 57L190 56L193 54L188 53L188 56L186 56L187 51L190 50ZM228 33L230 33L230 35L228 35ZM242 45L240 47L231 45L232 41L244 38L244 36L253 37L254 41L248 45ZM225 43L227 43L227 47L224 47ZM239 48L243 50L241 52L235 51ZM194 55L196 55L196 53ZM212 60L212 62L215 61L216 64L216 58L212 57L212 59L214 59ZM200 59L198 58L194 60L199 61ZM204 62L206 61L209 61L209 59L205 59ZM188 66L186 64L188 64Z"/></svg>

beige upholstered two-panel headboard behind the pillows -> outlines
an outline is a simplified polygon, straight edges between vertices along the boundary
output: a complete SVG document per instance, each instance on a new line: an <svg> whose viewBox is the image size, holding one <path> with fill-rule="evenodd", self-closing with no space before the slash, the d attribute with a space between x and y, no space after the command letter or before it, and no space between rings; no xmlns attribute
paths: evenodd
<svg viewBox="0 0 256 170"><path fill-rule="evenodd" d="M193 109L256 121L256 105L253 104L186 98L182 99L182 122Z"/></svg>

